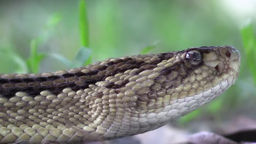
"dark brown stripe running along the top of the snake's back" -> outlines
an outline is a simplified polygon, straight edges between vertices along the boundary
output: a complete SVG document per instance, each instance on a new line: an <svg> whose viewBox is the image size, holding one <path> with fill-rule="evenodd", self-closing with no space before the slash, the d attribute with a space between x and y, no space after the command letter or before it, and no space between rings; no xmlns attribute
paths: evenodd
<svg viewBox="0 0 256 144"><path fill-rule="evenodd" d="M129 69L138 68L136 74L147 69L154 69L156 64L164 59L170 59L174 53L159 53L156 55L147 55L147 57L158 56L156 61L146 63L144 61L136 61L136 57L127 57L125 59L117 59L117 61L108 62L107 65L101 65L97 70L89 71L88 73L66 73L63 75L53 75L48 77L29 77L25 79L1 79L0 78L0 94L2 97L11 98L15 96L16 92L26 92L30 96L35 97L40 92L49 90L53 94L59 94L64 88L72 88L73 91L88 88L89 85L95 85L98 81L104 81L108 76L114 76L118 73L124 73ZM126 67L124 67L125 64ZM106 70L105 74L100 73ZM86 77L85 79L83 79ZM107 88L118 89L124 87L129 81L124 81L121 85L109 83Z"/></svg>

